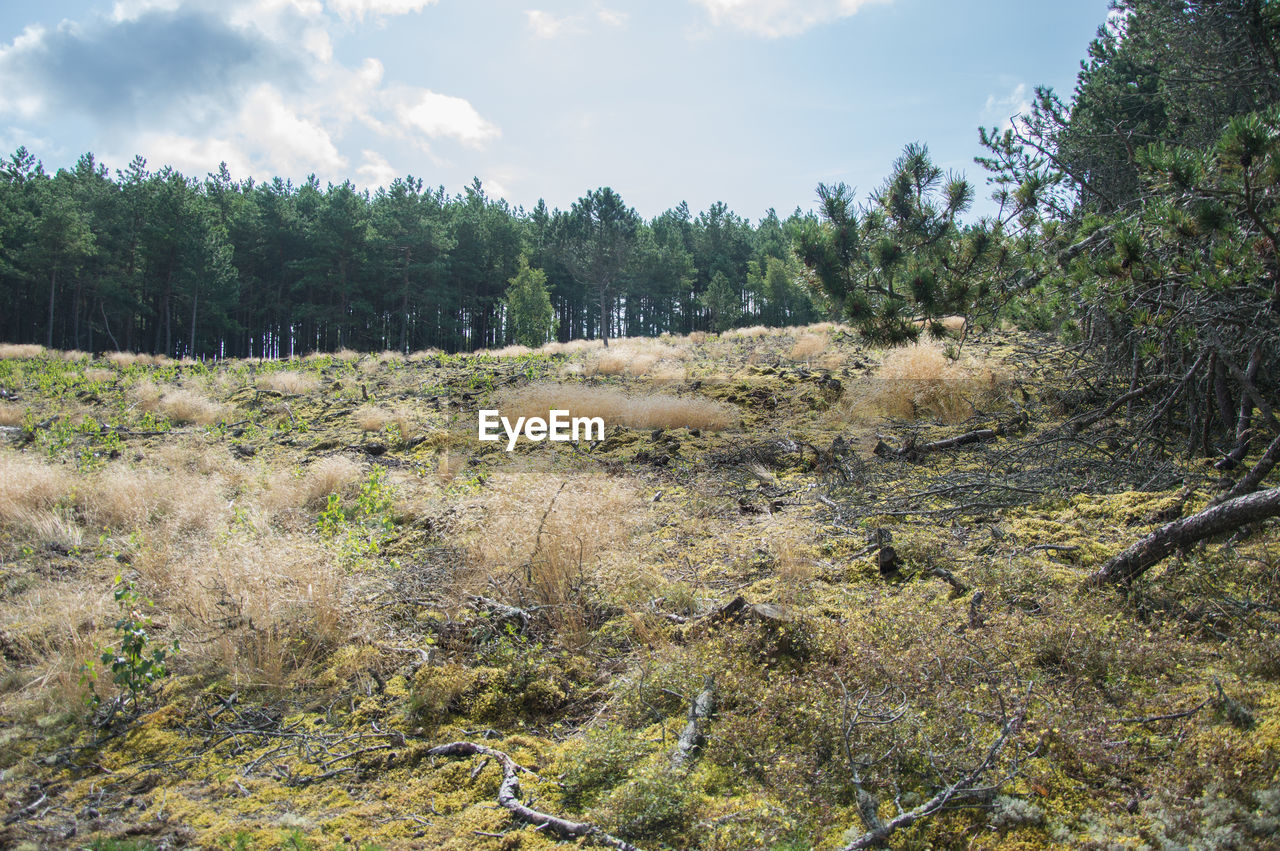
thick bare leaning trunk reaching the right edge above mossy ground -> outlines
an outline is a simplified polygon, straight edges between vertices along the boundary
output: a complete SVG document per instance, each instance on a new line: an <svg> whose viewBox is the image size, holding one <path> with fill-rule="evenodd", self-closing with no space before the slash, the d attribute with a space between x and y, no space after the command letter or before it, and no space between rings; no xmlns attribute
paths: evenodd
<svg viewBox="0 0 1280 851"><path fill-rule="evenodd" d="M1175 550L1184 549L1247 523L1256 523L1280 514L1280 488L1261 490L1229 499L1204 511L1161 526L1098 568L1087 584L1091 586L1130 582L1155 567Z"/></svg>

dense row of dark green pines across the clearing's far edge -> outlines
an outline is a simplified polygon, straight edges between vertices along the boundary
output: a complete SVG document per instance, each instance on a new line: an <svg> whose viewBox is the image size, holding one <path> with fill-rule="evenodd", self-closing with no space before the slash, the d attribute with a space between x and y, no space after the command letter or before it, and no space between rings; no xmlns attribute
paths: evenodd
<svg viewBox="0 0 1280 851"><path fill-rule="evenodd" d="M472 351L814 321L792 235L723 203L643 220L608 188L531 211L475 180L447 196L404 178L376 192L204 180L92 155L55 174L26 148L0 169L0 338L55 348L287 357ZM552 316L530 331L507 292L541 273ZM527 288L527 287L526 287ZM527 302L521 302L527 303Z"/></svg>

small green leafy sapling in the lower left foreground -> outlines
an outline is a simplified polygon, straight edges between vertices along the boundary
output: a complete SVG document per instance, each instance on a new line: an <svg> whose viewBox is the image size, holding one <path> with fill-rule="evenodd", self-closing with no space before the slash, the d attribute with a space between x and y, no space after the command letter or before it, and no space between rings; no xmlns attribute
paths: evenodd
<svg viewBox="0 0 1280 851"><path fill-rule="evenodd" d="M115 622L118 648L100 649L99 659L104 669L110 669L111 682L120 690L116 709L131 710L151 691L151 686L169 676L169 656L177 655L179 646L174 639L172 648L156 648L147 630L152 626L151 616L143 609L152 605L141 596L129 582L115 577L113 589L120 618ZM97 694L97 672L93 662L84 663L84 678L90 682L88 704L100 709L102 696Z"/></svg>

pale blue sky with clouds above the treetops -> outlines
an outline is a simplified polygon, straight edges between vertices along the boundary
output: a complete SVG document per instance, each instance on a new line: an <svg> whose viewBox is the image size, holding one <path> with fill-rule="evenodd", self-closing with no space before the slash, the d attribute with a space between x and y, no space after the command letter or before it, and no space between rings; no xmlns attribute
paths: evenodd
<svg viewBox="0 0 1280 851"><path fill-rule="evenodd" d="M5 0L0 151L756 220L1069 96L1107 0Z"/></svg>

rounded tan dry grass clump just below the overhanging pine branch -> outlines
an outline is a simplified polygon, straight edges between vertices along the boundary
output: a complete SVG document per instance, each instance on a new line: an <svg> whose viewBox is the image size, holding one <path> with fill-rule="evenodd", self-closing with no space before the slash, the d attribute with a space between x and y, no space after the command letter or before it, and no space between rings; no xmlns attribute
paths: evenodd
<svg viewBox="0 0 1280 851"><path fill-rule="evenodd" d="M891 349L864 393L851 394L855 418L891 416L964 422L995 403L1007 381L992 365L965 357L955 362L942 347L916 343Z"/></svg>

